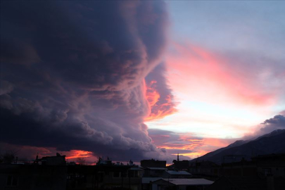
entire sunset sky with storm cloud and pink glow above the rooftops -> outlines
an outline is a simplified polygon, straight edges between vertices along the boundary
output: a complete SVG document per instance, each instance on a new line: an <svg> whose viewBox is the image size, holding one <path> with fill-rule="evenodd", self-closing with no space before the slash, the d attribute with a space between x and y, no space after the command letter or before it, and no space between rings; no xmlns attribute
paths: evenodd
<svg viewBox="0 0 285 190"><path fill-rule="evenodd" d="M285 129L284 1L1 1L0 153L203 156Z"/></svg>

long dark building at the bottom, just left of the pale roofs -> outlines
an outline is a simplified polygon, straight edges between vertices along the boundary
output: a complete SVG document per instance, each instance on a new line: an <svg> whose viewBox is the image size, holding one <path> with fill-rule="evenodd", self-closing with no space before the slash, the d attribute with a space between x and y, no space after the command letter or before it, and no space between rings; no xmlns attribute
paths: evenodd
<svg viewBox="0 0 285 190"><path fill-rule="evenodd" d="M141 189L142 168L138 165L100 160L98 165L69 165L68 190Z"/></svg>

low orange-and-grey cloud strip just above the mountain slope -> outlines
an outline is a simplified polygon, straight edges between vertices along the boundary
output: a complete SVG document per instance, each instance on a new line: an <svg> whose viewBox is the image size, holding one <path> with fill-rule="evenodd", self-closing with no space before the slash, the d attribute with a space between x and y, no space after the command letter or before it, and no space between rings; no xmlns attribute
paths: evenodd
<svg viewBox="0 0 285 190"><path fill-rule="evenodd" d="M215 151L218 148L226 147L237 140L253 140L265 134L270 134L274 130L285 129L284 111L273 118L265 120L260 125L256 126L252 134L247 134L242 138L210 138L198 137L195 133L172 132L163 129L148 129L149 136L153 139L153 143L159 148L165 148L168 153L175 156L179 153L182 159L189 160L203 156L210 151Z"/></svg>

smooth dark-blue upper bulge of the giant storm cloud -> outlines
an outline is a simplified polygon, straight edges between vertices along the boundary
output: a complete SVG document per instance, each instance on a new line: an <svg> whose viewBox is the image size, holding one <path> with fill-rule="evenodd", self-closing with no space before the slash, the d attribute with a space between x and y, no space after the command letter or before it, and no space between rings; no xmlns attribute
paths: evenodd
<svg viewBox="0 0 285 190"><path fill-rule="evenodd" d="M162 51L165 16L140 2L4 2L1 62L40 63L80 88L134 87Z"/></svg>

